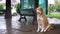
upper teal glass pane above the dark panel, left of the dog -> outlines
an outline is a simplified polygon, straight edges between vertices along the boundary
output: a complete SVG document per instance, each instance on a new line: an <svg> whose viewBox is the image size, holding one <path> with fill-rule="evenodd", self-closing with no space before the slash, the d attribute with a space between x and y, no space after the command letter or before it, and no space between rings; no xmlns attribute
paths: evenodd
<svg viewBox="0 0 60 34"><path fill-rule="evenodd" d="M34 0L21 0L21 9L34 8Z"/></svg>

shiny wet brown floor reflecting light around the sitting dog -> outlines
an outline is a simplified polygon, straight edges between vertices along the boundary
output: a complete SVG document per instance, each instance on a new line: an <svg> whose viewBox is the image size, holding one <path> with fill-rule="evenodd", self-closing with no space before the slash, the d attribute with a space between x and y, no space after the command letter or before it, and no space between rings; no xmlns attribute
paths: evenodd
<svg viewBox="0 0 60 34"><path fill-rule="evenodd" d="M4 19L0 16L0 34L60 34L60 25L58 25L60 19L48 18L48 21L55 25L51 31L45 33L36 32L37 24L32 24L33 17L27 16L28 22L21 23L18 20L19 16L13 16L12 19Z"/></svg>

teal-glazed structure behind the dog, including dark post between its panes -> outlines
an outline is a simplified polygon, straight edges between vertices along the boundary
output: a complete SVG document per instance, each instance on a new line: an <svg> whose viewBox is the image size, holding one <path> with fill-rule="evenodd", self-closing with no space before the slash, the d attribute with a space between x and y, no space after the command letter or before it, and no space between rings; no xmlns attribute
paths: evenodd
<svg viewBox="0 0 60 34"><path fill-rule="evenodd" d="M36 7L42 7L44 14L47 14L47 0L20 0L20 15L34 16L35 19Z"/></svg>

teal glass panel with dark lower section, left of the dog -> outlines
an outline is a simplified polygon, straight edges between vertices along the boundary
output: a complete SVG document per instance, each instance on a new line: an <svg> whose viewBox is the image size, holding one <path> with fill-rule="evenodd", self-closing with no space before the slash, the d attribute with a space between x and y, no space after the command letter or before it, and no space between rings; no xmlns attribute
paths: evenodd
<svg viewBox="0 0 60 34"><path fill-rule="evenodd" d="M34 9L34 0L20 0L21 2L21 9L20 14L22 15L33 15Z"/></svg>

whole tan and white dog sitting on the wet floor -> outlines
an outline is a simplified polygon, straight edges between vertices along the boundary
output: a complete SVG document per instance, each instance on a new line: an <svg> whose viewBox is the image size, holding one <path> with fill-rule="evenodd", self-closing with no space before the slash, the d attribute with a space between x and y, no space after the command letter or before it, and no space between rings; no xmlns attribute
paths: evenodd
<svg viewBox="0 0 60 34"><path fill-rule="evenodd" d="M39 32L40 29L41 32L49 31L52 27L48 23L47 17L43 13L43 9L41 7L37 7L36 12L37 12L37 22L38 22L37 32Z"/></svg>

